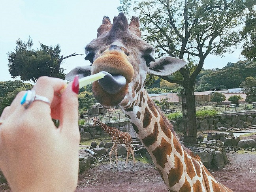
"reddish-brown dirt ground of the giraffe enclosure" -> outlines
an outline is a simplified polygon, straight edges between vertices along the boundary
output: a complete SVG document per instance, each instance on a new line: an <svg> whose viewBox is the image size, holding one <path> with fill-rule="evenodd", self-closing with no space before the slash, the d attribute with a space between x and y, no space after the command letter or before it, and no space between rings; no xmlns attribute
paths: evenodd
<svg viewBox="0 0 256 192"><path fill-rule="evenodd" d="M256 135L243 137L254 139ZM130 157L131 158L131 157ZM229 163L223 169L211 169L215 179L234 192L256 191L256 154L250 152L228 153ZM130 159L126 169L124 160L119 159L117 168L110 169L109 163L99 164L79 175L75 192L167 192L158 171L152 164ZM8 184L0 184L1 192L10 192Z"/></svg>

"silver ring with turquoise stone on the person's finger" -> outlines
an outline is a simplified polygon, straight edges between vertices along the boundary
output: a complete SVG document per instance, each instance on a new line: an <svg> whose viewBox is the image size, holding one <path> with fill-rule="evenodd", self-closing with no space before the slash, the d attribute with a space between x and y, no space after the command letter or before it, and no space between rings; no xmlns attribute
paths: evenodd
<svg viewBox="0 0 256 192"><path fill-rule="evenodd" d="M37 95L34 90L27 90L26 94L24 94L23 98L21 99L21 105L23 105L23 107L27 109L34 102L34 100L39 100L50 104L50 101L47 97Z"/></svg>

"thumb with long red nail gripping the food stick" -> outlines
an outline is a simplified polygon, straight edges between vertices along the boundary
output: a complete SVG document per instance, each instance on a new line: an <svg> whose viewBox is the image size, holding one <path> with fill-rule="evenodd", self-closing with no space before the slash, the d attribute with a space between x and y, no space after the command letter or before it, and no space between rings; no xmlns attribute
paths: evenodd
<svg viewBox="0 0 256 192"><path fill-rule="evenodd" d="M78 92L79 92L79 77L76 76L68 87L64 90L61 96L61 119L60 126L62 131L67 134L78 132Z"/></svg>

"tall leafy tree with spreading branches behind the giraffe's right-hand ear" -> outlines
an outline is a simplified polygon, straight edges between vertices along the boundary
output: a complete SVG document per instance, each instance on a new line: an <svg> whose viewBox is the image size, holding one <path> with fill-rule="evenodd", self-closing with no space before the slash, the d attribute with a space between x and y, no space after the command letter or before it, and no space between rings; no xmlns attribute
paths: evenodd
<svg viewBox="0 0 256 192"><path fill-rule="evenodd" d="M177 75L161 77L184 87L187 124L186 143L197 143L194 85L207 55L222 55L240 41L237 26L247 6L247 0L120 0L120 11L139 14L143 38L154 44L159 56L186 58L188 65Z"/></svg>

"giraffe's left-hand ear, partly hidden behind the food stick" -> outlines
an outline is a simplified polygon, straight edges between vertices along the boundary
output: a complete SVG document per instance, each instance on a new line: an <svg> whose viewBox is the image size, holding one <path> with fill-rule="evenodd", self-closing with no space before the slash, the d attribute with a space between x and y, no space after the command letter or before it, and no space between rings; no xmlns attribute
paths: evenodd
<svg viewBox="0 0 256 192"><path fill-rule="evenodd" d="M75 78L75 75L79 76L80 78L87 77L92 74L92 66L79 66L74 69L72 69L68 74L66 74L65 79L68 81L73 81Z"/></svg>

